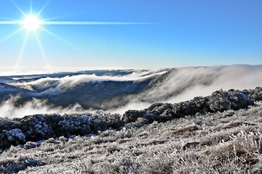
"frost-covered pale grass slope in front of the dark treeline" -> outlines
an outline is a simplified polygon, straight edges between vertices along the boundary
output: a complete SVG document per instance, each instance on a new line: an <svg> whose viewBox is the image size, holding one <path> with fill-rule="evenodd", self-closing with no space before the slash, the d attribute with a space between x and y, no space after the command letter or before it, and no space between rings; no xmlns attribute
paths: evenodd
<svg viewBox="0 0 262 174"><path fill-rule="evenodd" d="M260 173L262 104L11 146L0 173ZM41 143L41 144L40 144ZM40 145L39 145L40 144ZM35 145L37 145L35 147Z"/></svg>

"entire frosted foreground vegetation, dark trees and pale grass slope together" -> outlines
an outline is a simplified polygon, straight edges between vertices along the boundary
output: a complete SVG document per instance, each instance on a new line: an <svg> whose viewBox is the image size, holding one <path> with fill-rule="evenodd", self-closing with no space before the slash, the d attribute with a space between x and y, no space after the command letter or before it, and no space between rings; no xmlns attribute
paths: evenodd
<svg viewBox="0 0 262 174"><path fill-rule="evenodd" d="M260 173L260 100L257 87L123 116L0 118L0 173Z"/></svg>

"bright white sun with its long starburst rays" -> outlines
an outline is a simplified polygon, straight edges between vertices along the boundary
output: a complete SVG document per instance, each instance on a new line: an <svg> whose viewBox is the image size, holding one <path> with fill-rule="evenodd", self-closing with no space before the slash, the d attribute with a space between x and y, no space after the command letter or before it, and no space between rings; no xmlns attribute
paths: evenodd
<svg viewBox="0 0 262 174"><path fill-rule="evenodd" d="M19 27L19 29L17 31L14 31L12 34L8 35L7 37L0 39L0 42L8 39L11 36L14 36L15 34L17 34L18 32L20 32L24 29L26 29L28 31L27 33L23 32L23 34L26 34L25 40L23 41L21 51L19 53L17 62L15 64L16 66L14 66L15 70L18 70L18 68L19 68L20 59L23 55L28 36L31 35L31 34L35 34L35 38L36 38L37 43L40 47L43 58L45 59L45 62L48 64L48 61L47 61L44 49L42 47L40 38L38 37L38 34L40 34L40 32L36 32L37 28L39 28L41 31L45 31L47 34L50 34L50 35L56 37L57 39L67 43L68 45L73 46L74 48L78 49L79 51L83 51L83 50L79 49L78 46L75 46L74 44L66 41L65 39L57 36L56 34L53 34L51 31L48 31L47 29L45 29L45 25L140 25L140 24L154 24L154 23L139 23L139 22L108 22L108 21L106 21L106 22L105 21L53 21L52 19L61 18L61 17L53 17L53 18L48 18L48 19L41 19L39 17L42 10L47 6L47 4L50 0L47 0L46 4L41 8L41 10L38 13L36 13L34 10L32 10L32 2L30 1L31 2L30 13L28 13L28 14L24 13L13 0L11 0L11 1L15 5L15 7L17 7L17 9L21 12L21 14L23 14L23 17L21 17L18 20L15 20L15 19L14 20L0 20L0 25L22 25L22 27ZM38 17L41 20L39 20ZM33 31L33 32L31 32L31 31ZM1 34L1 32L0 32L0 34Z"/></svg>

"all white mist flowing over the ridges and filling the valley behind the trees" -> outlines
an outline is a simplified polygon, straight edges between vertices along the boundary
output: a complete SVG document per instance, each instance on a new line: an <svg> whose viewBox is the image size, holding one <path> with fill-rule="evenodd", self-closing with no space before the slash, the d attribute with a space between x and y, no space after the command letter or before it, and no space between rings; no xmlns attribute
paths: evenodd
<svg viewBox="0 0 262 174"><path fill-rule="evenodd" d="M25 89L33 90L32 86L45 89L44 93L52 94L72 88L88 81L126 81L141 80L151 75L163 74L166 71L158 72L152 70L150 75L142 76L148 71L137 71L128 75L119 76L96 76L74 75L62 78L43 78L30 82L12 83ZM9 83L11 84L11 83ZM229 89L254 89L262 86L262 65L231 65L231 66L212 66L212 67L182 67L172 69L161 83L156 83L152 88L138 94L127 95L124 97L126 105L105 109L107 112L123 114L129 109L141 110L149 107L155 102L176 103L193 99L196 96L208 96L216 90ZM56 107L48 103L48 100L33 98L25 102L22 106L15 106L19 96L13 96L2 102L0 105L1 117L23 117L36 113L75 113L75 112L94 112L92 108L85 110L81 105L75 103L67 107ZM110 102L109 102L110 104ZM103 105L101 105L103 108Z"/></svg>

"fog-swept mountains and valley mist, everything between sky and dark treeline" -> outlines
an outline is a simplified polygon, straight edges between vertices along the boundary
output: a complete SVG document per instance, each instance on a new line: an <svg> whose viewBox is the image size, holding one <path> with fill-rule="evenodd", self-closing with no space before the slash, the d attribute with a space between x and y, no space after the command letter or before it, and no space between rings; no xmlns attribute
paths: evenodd
<svg viewBox="0 0 262 174"><path fill-rule="evenodd" d="M126 74L52 75L0 84L1 117L34 113L93 112L99 109L123 114L155 102L181 102L223 89L262 86L262 65L182 67L124 70ZM12 90L10 90L12 89ZM14 93L14 91L16 91ZM9 95L17 95L10 97Z"/></svg>

